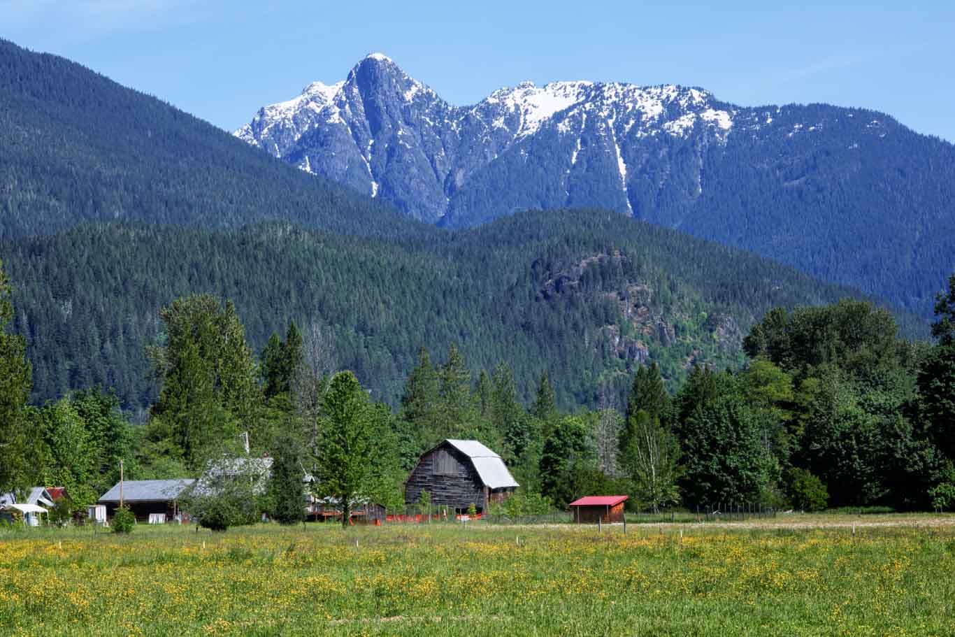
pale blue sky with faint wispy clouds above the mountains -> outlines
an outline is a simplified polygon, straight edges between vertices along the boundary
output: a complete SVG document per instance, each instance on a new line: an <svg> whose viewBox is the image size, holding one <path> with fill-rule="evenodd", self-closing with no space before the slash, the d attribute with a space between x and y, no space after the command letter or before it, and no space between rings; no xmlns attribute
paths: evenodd
<svg viewBox="0 0 955 637"><path fill-rule="evenodd" d="M390 55L455 104L530 79L873 108L955 140L955 3L0 0L0 36L226 129Z"/></svg>

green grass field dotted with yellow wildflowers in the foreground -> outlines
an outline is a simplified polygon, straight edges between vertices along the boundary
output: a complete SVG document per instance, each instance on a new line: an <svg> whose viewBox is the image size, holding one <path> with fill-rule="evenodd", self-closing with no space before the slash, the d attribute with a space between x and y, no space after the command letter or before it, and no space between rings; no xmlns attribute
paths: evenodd
<svg viewBox="0 0 955 637"><path fill-rule="evenodd" d="M7 531L0 633L955 634L955 518L791 521Z"/></svg>

